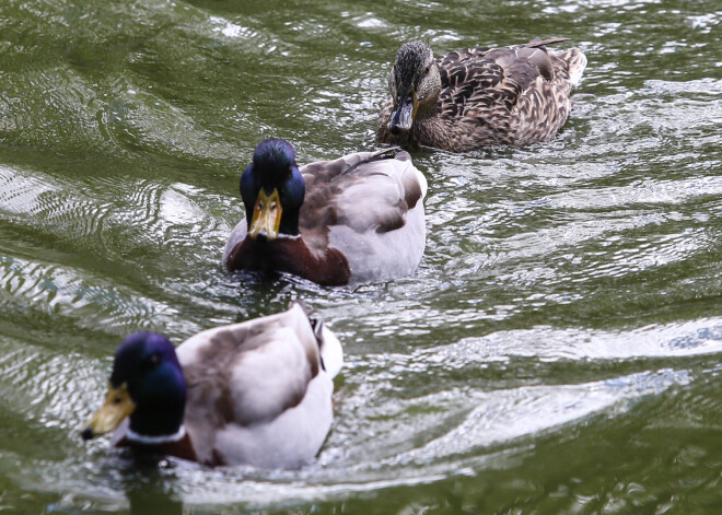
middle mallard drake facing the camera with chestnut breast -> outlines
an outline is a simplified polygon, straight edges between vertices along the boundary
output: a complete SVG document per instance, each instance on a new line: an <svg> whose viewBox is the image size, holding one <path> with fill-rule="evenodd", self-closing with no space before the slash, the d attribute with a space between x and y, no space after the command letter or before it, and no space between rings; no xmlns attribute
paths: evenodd
<svg viewBox="0 0 722 515"><path fill-rule="evenodd" d="M287 141L264 140L241 176L246 218L223 264L327 285L407 276L423 255L426 192L426 178L397 148L299 169Z"/></svg>

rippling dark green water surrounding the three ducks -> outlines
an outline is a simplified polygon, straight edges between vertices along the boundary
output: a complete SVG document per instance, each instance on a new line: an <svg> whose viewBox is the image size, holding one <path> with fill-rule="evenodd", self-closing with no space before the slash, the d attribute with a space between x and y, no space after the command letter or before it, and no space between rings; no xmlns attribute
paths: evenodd
<svg viewBox="0 0 722 515"><path fill-rule="evenodd" d="M721 25L712 0L2 0L0 511L721 513ZM223 272L259 139L372 149L403 42L536 36L589 57L569 122L415 153L415 277ZM79 438L128 332L298 297L347 355L316 465L138 470Z"/></svg>

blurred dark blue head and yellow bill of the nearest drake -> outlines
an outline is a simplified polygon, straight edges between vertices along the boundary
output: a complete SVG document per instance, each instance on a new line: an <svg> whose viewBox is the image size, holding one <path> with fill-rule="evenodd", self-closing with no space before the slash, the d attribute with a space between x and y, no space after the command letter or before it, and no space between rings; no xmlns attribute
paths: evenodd
<svg viewBox="0 0 722 515"><path fill-rule="evenodd" d="M130 417L142 436L178 432L186 405L186 381L173 344L162 335L136 332L118 347L103 407L82 431L85 440L115 430Z"/></svg>

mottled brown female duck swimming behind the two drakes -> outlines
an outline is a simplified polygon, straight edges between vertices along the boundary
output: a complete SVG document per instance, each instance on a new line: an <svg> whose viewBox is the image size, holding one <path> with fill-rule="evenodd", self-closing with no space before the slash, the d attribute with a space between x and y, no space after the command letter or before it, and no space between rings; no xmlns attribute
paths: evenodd
<svg viewBox="0 0 722 515"><path fill-rule="evenodd" d="M545 48L567 39L469 48L435 59L429 45L403 45L388 74L379 141L466 152L549 140L567 120L569 93L586 66L577 48Z"/></svg>

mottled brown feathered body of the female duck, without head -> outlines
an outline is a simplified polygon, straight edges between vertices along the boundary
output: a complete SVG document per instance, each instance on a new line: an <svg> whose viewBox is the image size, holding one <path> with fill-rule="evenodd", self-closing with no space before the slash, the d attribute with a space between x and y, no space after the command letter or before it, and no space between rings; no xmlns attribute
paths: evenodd
<svg viewBox="0 0 722 515"><path fill-rule="evenodd" d="M439 110L453 121L458 147L523 145L552 138L571 110L569 98L586 65L575 48L549 52L546 42L470 48L438 59Z"/></svg>

